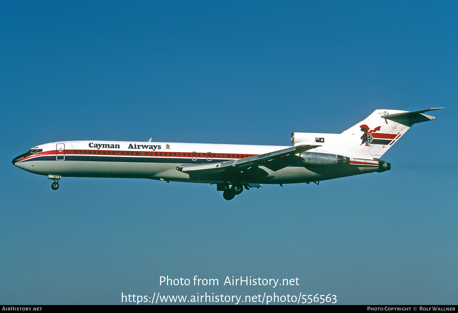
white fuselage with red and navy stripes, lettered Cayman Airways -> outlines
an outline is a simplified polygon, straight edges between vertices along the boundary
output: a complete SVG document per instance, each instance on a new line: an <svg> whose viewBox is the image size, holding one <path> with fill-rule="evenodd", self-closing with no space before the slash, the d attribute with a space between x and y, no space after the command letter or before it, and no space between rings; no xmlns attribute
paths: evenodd
<svg viewBox="0 0 458 313"><path fill-rule="evenodd" d="M233 183L230 178L191 176L177 169L183 164L225 162L261 155L289 146L254 146L135 141L60 141L35 147L13 164L28 172L62 177L149 178L195 183ZM32 150L31 150L32 151ZM319 152L319 149L312 151ZM268 175L238 183L305 183L376 171L372 166L304 167L294 164ZM228 181L229 179L229 181Z"/></svg>

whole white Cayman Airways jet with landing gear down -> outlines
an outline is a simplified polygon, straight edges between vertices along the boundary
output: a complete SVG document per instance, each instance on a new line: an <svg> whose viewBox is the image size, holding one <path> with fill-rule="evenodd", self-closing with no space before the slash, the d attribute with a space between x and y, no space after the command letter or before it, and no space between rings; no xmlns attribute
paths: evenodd
<svg viewBox="0 0 458 313"><path fill-rule="evenodd" d="M53 179L62 177L149 178L216 184L226 200L262 184L316 183L391 164L380 157L416 123L435 117L420 111L379 109L340 134L291 134L293 146L252 146L138 141L58 141L35 146L14 165Z"/></svg>

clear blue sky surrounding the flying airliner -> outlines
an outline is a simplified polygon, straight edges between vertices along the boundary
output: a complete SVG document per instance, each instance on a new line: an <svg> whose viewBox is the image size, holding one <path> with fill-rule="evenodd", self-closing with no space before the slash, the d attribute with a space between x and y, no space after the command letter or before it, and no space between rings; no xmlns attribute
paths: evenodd
<svg viewBox="0 0 458 313"><path fill-rule="evenodd" d="M124 294L335 294L457 304L454 1L5 1L0 11L0 303ZM11 160L58 140L289 145L378 108L447 107L385 173L215 186L44 176ZM159 276L218 278L164 287ZM300 286L221 286L226 276Z"/></svg>

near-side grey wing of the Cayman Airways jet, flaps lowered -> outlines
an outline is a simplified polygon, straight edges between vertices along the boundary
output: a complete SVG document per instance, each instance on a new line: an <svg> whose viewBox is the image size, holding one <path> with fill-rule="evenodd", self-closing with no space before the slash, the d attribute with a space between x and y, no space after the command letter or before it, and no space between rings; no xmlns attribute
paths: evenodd
<svg viewBox="0 0 458 313"><path fill-rule="evenodd" d="M293 146L290 148L273 151L265 154L260 154L254 157L246 157L239 160L232 160L220 163L210 163L202 165L183 164L177 167L181 172L188 174L215 174L215 173L244 173L258 174L267 176L260 166L267 167L272 171L278 171L281 168L287 167L302 160L296 156L297 153L304 152L313 148L315 145L309 146Z"/></svg>

